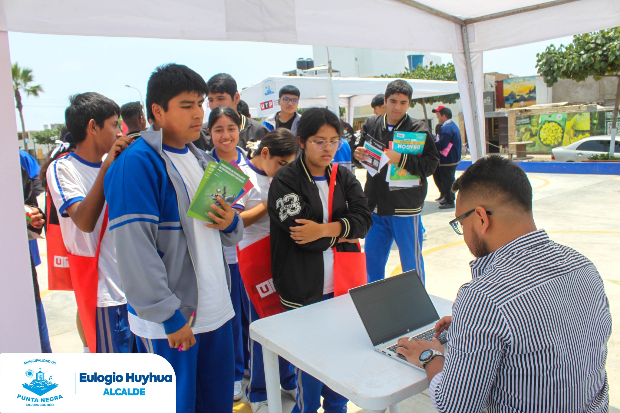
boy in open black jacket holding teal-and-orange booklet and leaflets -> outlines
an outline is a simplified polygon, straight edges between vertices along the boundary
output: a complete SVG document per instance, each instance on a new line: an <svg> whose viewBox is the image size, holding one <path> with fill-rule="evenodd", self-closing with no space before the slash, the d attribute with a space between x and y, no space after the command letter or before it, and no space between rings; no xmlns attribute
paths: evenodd
<svg viewBox="0 0 620 413"><path fill-rule="evenodd" d="M370 116L362 126L361 139L355 149L355 159L364 159L363 144L368 136L382 142L389 148L394 132L426 134L424 149L420 155L400 154L386 149L389 163L420 176L420 185L392 190L386 182L389 168L383 168L374 176L366 175L368 204L373 210L373 226L366 235L365 251L368 282L385 277L385 267L392 242L396 240L401 256L402 271L417 270L424 282L424 261L422 259L423 228L420 212L427 195L427 176L433 175L439 163L433 134L423 121L410 118L407 109L411 103L413 89L405 80L393 80L385 93L385 115ZM368 253L371 251L371 253Z"/></svg>

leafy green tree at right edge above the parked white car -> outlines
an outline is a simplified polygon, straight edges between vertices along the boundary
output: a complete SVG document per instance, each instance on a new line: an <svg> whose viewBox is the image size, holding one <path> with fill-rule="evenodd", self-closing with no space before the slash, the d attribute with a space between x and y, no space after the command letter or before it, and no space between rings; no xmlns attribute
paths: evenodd
<svg viewBox="0 0 620 413"><path fill-rule="evenodd" d="M609 155L613 155L620 102L620 27L573 36L569 45L560 45L558 48L547 46L544 52L536 54L536 58L538 73L548 87L556 84L559 79L581 82L589 76L595 80L616 77L618 86L609 146Z"/></svg>

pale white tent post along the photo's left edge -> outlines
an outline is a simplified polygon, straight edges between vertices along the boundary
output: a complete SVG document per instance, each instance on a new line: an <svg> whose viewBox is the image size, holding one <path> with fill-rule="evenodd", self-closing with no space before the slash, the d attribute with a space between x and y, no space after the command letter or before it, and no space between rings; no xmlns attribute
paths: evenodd
<svg viewBox="0 0 620 413"><path fill-rule="evenodd" d="M9 34L4 31L0 31L0 125L0 353L40 353L17 152Z"/></svg>

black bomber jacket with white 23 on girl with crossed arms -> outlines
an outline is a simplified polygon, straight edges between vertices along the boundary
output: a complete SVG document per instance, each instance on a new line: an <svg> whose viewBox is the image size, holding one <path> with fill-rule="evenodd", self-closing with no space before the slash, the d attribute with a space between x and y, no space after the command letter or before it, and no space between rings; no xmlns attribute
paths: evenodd
<svg viewBox="0 0 620 413"><path fill-rule="evenodd" d="M334 164L327 167L327 180ZM360 252L352 243L338 243L339 238L364 238L372 225L368 201L360 181L345 167L338 167L332 222L340 221L342 232L336 238L319 238L303 245L295 243L290 227L301 224L296 219L323 222L323 205L305 156L280 168L271 183L267 209L270 218L273 284L286 310L317 303L323 297L323 251Z"/></svg>

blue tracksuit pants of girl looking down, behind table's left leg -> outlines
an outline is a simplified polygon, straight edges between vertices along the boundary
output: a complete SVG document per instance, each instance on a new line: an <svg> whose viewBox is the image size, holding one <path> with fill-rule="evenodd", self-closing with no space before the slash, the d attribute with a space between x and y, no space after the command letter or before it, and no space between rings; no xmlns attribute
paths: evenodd
<svg viewBox="0 0 620 413"><path fill-rule="evenodd" d="M259 318L254 305L250 302L250 323L259 320ZM248 346L250 348L250 380L247 382L246 397L251 402L265 401L267 400L267 389L265 389L263 346L252 339L249 339ZM278 363L280 364L280 386L285 390L294 389L295 372L293 365L282 357L278 357Z"/></svg>

